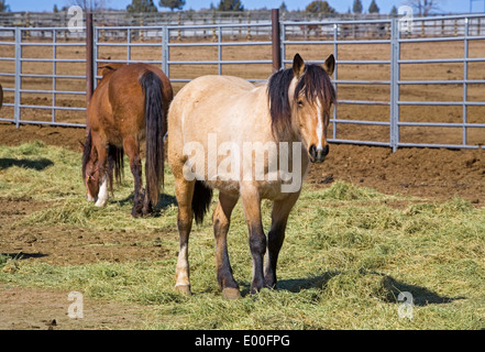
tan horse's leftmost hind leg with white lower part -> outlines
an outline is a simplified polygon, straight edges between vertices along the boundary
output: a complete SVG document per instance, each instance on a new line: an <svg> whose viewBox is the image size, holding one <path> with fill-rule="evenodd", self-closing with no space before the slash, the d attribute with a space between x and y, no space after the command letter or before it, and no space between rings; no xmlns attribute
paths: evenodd
<svg viewBox="0 0 485 352"><path fill-rule="evenodd" d="M194 212L191 208L195 182L184 177L175 178L175 195L178 202L177 227L179 251L175 270L175 289L184 295L190 295L190 278L188 263L188 239L192 228Z"/></svg>

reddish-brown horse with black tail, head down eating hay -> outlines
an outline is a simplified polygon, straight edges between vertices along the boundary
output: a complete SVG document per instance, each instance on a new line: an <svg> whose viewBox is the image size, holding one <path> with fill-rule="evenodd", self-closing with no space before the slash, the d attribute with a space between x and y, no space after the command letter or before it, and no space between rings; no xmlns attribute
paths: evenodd
<svg viewBox="0 0 485 352"><path fill-rule="evenodd" d="M120 179L123 154L130 158L134 177L132 215L152 211L163 183L166 116L173 99L172 85L165 74L147 64L107 64L102 79L88 107L88 136L84 145L82 177L88 199L97 207L108 202L113 169ZM146 143L145 182L142 188L140 143Z"/></svg>

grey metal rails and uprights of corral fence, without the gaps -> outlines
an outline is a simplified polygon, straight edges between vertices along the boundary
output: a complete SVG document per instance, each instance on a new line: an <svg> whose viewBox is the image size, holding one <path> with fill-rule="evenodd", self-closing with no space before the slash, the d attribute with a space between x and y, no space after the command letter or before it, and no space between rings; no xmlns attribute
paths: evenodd
<svg viewBox="0 0 485 352"><path fill-rule="evenodd" d="M472 15L447 15L447 16L436 16L436 18L415 18L414 19L414 30L410 33L399 32L398 19L385 19L385 20L356 20L356 21L342 21L334 19L323 19L321 21L280 21L279 20L279 38L280 38L280 57L283 57L282 66L288 67L293 63L291 59L285 57L291 57L291 55L286 55L287 50L291 50L291 46L295 45L331 45L333 47L333 54L335 56L337 68L333 77L333 85L335 89L345 87L345 86L383 86L389 87L389 99L372 99L370 97L368 100L351 100L345 99L345 96L339 97L339 106L344 105L359 105L364 107L371 106L382 106L389 107L390 114L389 119L383 121L382 118L378 121L372 121L372 117L366 117L364 120L356 120L354 118L342 119L339 118L338 107L335 108L335 112L333 118L330 119L330 123L333 127L333 135L329 139L332 143L350 143L350 144L363 144L363 145L379 145L379 146L390 146L393 150L397 147L408 147L408 146L428 146L428 147L469 147L476 148L481 147L480 145L471 145L467 143L467 129L485 129L485 121L477 121L477 123L471 123L467 117L467 108L469 107L485 107L485 101L470 101L470 97L467 94L467 88L475 85L485 85L485 77L480 79L472 79L469 75L469 65L474 63L485 63L485 57L469 57L467 48L469 43L483 41L485 40L485 23L483 24L483 30L481 29L481 20L485 22L485 14L472 14ZM96 80L97 78L101 78L97 75L97 64L99 63L136 63L140 61L135 61L132 58L132 51L135 51L141 47L161 47L161 56L158 57L147 57L150 59L143 62L161 65L164 72L169 76L170 80L179 84L185 84L191 80L191 78L181 77L170 77L172 68L179 66L189 66L189 65L212 65L218 67L219 74L223 73L223 67L228 65L274 65L272 58L271 47L274 42L273 40L266 41L261 40L264 36L271 36L272 33L275 33L273 22L261 22L261 23L207 23L203 25L194 24L194 25L136 25L136 26L95 26L93 28L93 48L95 54L92 57L92 78ZM317 40L308 40L310 33L310 26L317 28L316 36L321 35ZM234 32L239 32L239 35L245 35L243 29L247 29L247 38L249 41L233 41L232 36ZM367 31L367 29L370 29ZM473 29L473 30L472 30ZM251 32L250 32L251 31ZM441 31L441 32L440 32ZM3 33L4 37L0 40L0 45L2 46L11 46L15 50L14 57L0 57L0 62L5 63L14 63L15 72L7 72L0 73L1 77L9 77L15 79L14 88L5 87L3 90L9 95L14 94L14 102L4 103L4 107L14 108L14 118L0 118L0 121L10 121L19 124L29 124L29 123L42 123L48 125L65 125L65 127L86 127L86 124L79 123L70 123L70 122L60 122L55 119L55 111L57 110L71 110L71 111L86 111L86 108L71 108L71 107L57 107L56 98L62 95L76 95L76 96L86 96L85 91L75 91L75 90L59 90L56 86L57 79L86 79L84 75L75 75L75 74L57 74L56 65L57 64L85 64L89 61L86 59L67 59L67 58L58 58L56 57L56 48L60 47L76 47L76 46L85 46L86 43L80 43L79 41L86 37L85 32L79 33L77 35L70 35L69 42L64 41L66 38L66 34L68 34L68 28L42 28L42 29L33 29L33 28L12 28L12 29L0 29L0 34ZM198 43L194 42L185 42L185 41L175 41L176 37L180 38L181 35L184 37L189 37L191 35L205 35L206 38L211 38L211 42ZM251 33L251 34L250 34ZM431 33L431 34L429 34ZM438 33L438 34L437 34ZM454 35L453 35L454 33ZM33 35L34 34L34 35ZM35 35L36 34L36 35ZM132 34L135 34L135 40L133 40ZM425 34L425 36L422 35ZM49 42L40 42L35 41L35 37L38 35L45 35L48 37ZM297 35L297 36L295 36ZM378 35L376 37L375 35ZM429 36L431 35L431 36ZM115 42L106 42L104 40L100 40L102 37L112 38L113 36L121 38ZM224 41L230 37L230 41ZM299 37L302 37L299 40ZM10 41L12 38L12 41ZM27 41L25 38L29 38ZM32 38L34 38L32 41ZM52 38L52 41L51 41ZM139 40L142 40L140 42ZM143 40L146 41L143 41ZM458 57L451 58L401 58L401 51L405 51L407 44L412 43L447 43L447 42L460 42L464 43L464 52L459 53ZM353 45L356 48L362 47L361 45L385 45L390 48L390 55L386 59L341 59L339 57L339 47L341 45ZM268 46L268 55L263 59L223 59L223 48L225 47L251 47L251 46ZM22 48L25 47L53 47L53 57L52 58L32 58L32 57L22 57L20 54L22 53ZM117 56L117 59L104 59L98 57L100 53L100 48L102 47L120 47L126 50L125 59ZM201 59L201 61L184 61L179 59L179 57L170 57L170 50L174 48L191 48L191 47L208 47L213 48L213 51L218 52L217 59ZM11 54L10 54L11 55ZM274 57L274 56L273 56ZM47 63L53 65L52 74L29 74L22 72L22 64L24 63ZM323 61L315 61L316 64L323 64ZM426 64L460 64L463 66L463 77L454 78L454 79L440 79L440 77L436 77L437 79L405 79L401 77L401 68L407 65L426 65ZM389 70L389 79L375 79L375 80L365 80L365 79L341 79L340 70L345 69L345 66L351 65L362 65L364 67L371 68L372 66L383 66L385 69ZM340 68L340 69L339 69ZM461 70L461 68L460 68ZM90 75L90 73L88 73ZM339 77L340 75L340 77ZM22 87L22 80L29 78L45 78L52 79L53 86L52 89L42 90L42 89L25 89ZM250 81L260 82L265 81L266 79L249 79ZM456 101L445 101L444 98L442 100L437 99L438 101L427 101L425 97L422 97L422 101L414 101L406 100L406 96L403 95L403 87L409 86L458 86L458 89L463 90L463 96L461 100ZM362 87L362 89L365 89ZM381 88L379 88L381 89ZM454 87L453 87L454 89ZM21 99L22 95L32 95L32 94L44 94L52 95L52 106L36 106L36 105L22 105ZM419 98L418 98L419 99ZM476 100L476 98L475 98ZM436 106L436 107L462 107L463 108L463 119L461 122L414 122L409 121L411 117L401 117L400 108L407 106ZM52 111L52 121L34 121L34 119L20 119L20 112L22 109L42 109L42 110L51 110ZM401 121L406 120L406 121ZM338 128L339 125L370 125L370 127L382 127L389 130L389 139L388 141L359 141L352 139L339 139L338 138ZM400 129L401 128L454 128L461 129L463 131L463 143L462 144L433 144L427 143L427 141L422 141L422 143L403 143L400 139Z"/></svg>

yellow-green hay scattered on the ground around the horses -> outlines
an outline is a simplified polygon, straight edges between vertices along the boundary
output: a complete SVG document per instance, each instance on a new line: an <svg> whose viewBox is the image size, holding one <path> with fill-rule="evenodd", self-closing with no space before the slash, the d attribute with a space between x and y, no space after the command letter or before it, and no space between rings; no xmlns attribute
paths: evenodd
<svg viewBox="0 0 485 352"><path fill-rule="evenodd" d="M126 217L129 177L106 209L95 209L84 199L77 153L33 142L1 146L0 161L7 157L23 162L1 166L0 196L29 195L53 205L18 226L143 231L176 222L172 204L159 207L156 218L140 221ZM173 195L169 172L165 179L165 191ZM394 200L404 206L389 206ZM266 229L269 208L264 202ZM168 242L165 245L175 251L177 241ZM146 329L485 327L485 208L476 209L459 198L427 202L342 182L322 189L306 187L289 219L278 287L255 296L249 294L251 256L240 206L231 222L229 251L244 296L236 301L227 301L219 293L212 227L207 221L195 227L190 240L192 297L173 290L175 257L57 266L12 263L0 256L0 283L80 290L97 299L136 302L147 307ZM4 270L12 265L14 270ZM414 296L412 319L399 317L400 292Z"/></svg>

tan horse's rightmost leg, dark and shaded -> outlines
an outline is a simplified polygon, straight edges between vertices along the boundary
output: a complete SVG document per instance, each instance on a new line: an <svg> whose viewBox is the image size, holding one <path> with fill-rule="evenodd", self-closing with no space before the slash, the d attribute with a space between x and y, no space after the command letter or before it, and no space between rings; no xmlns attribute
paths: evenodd
<svg viewBox="0 0 485 352"><path fill-rule="evenodd" d="M285 240L286 222L298 197L299 193L289 194L285 200L273 202L272 228L267 235L268 253L264 268L264 286L266 287L276 287L276 263L283 241Z"/></svg>

